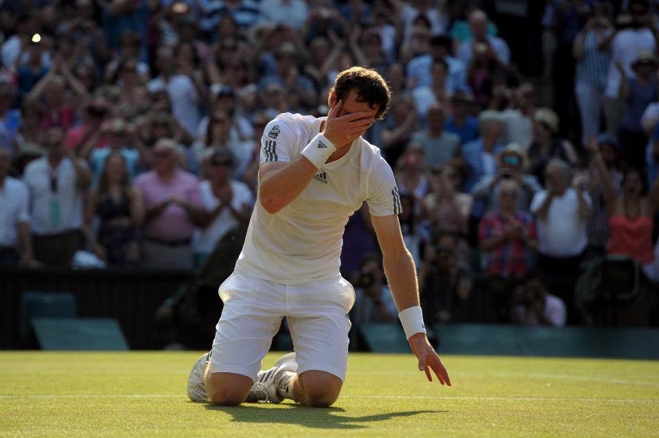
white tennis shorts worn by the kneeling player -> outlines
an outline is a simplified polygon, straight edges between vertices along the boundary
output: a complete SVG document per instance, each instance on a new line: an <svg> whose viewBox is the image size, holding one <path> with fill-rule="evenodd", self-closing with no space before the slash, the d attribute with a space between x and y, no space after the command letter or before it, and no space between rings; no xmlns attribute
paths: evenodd
<svg viewBox="0 0 659 438"><path fill-rule="evenodd" d="M355 291L347 280L339 277L286 286L232 273L219 294L224 308L213 340L211 373L257 380L281 319L287 317L297 373L319 370L345 380L348 312L355 302Z"/></svg>

